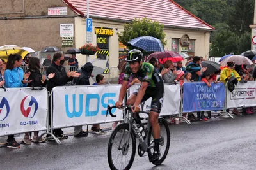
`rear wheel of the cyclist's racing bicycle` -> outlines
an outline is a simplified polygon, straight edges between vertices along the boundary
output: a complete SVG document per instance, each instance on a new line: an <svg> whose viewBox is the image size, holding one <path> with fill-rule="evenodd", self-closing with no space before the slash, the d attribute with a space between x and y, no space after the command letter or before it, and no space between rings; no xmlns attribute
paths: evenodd
<svg viewBox="0 0 256 170"><path fill-rule="evenodd" d="M168 127L168 124L164 118L158 118L158 123L160 125L160 131L161 131L161 141L159 145L159 150L161 153L161 157L159 157L159 160L156 160L152 162L154 165L160 165L164 162L164 159L166 159L166 156L169 152L170 147L170 130ZM150 136L148 136L148 147L150 147L151 153L154 152L154 137L152 134L152 127L150 127L149 130Z"/></svg>

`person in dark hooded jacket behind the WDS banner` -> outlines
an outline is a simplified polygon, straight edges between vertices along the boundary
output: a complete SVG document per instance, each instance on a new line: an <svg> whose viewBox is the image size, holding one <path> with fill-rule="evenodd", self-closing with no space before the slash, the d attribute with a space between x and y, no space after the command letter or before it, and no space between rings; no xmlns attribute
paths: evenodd
<svg viewBox="0 0 256 170"><path fill-rule="evenodd" d="M74 83L76 85L90 85L89 78L92 76L93 71L93 65L91 62L87 62L84 64L83 67L81 67L81 75L79 78L74 78ZM81 125L76 126L74 128L74 137L85 137L87 136L87 133L83 131L83 128Z"/></svg>

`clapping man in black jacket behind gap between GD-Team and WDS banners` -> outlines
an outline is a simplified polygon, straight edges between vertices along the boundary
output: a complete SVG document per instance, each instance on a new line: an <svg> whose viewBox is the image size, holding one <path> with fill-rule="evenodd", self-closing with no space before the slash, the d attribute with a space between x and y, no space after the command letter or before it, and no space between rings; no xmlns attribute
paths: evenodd
<svg viewBox="0 0 256 170"><path fill-rule="evenodd" d="M46 70L47 76L49 76L49 74L51 73L55 74L54 78L51 78L49 79L49 81L47 81L47 90L49 92L51 92L52 88L56 86L66 85L68 81L72 81L72 77L79 77L81 75L80 73L76 73L74 71L66 73L65 68L62 66L64 62L65 62L64 56L61 52L54 53L52 64ZM51 110L51 97L49 97L48 107L49 107L49 110ZM51 111L49 111L49 113L51 113ZM51 122L50 119L49 119L49 122ZM63 131L61 129L54 129L53 133L58 139L68 138L68 136L65 136L63 134ZM49 135L47 137L49 137Z"/></svg>

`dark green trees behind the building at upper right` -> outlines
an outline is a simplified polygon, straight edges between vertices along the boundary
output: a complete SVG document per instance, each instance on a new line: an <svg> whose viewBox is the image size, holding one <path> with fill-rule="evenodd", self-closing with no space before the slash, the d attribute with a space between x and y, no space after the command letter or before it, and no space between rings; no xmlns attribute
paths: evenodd
<svg viewBox="0 0 256 170"><path fill-rule="evenodd" d="M196 17L215 27L210 55L222 57L251 49L255 0L174 0Z"/></svg>

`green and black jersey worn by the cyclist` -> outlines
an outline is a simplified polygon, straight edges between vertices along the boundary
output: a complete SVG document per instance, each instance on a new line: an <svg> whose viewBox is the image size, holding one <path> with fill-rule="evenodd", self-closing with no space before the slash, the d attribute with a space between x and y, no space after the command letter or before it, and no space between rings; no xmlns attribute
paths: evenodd
<svg viewBox="0 0 256 170"><path fill-rule="evenodd" d="M134 74L134 77L138 78L141 82L147 82L148 88L156 87L159 83L163 84L159 71L148 62L143 62L137 73L132 73L129 63L127 63L123 80L129 81L131 74Z"/></svg>

